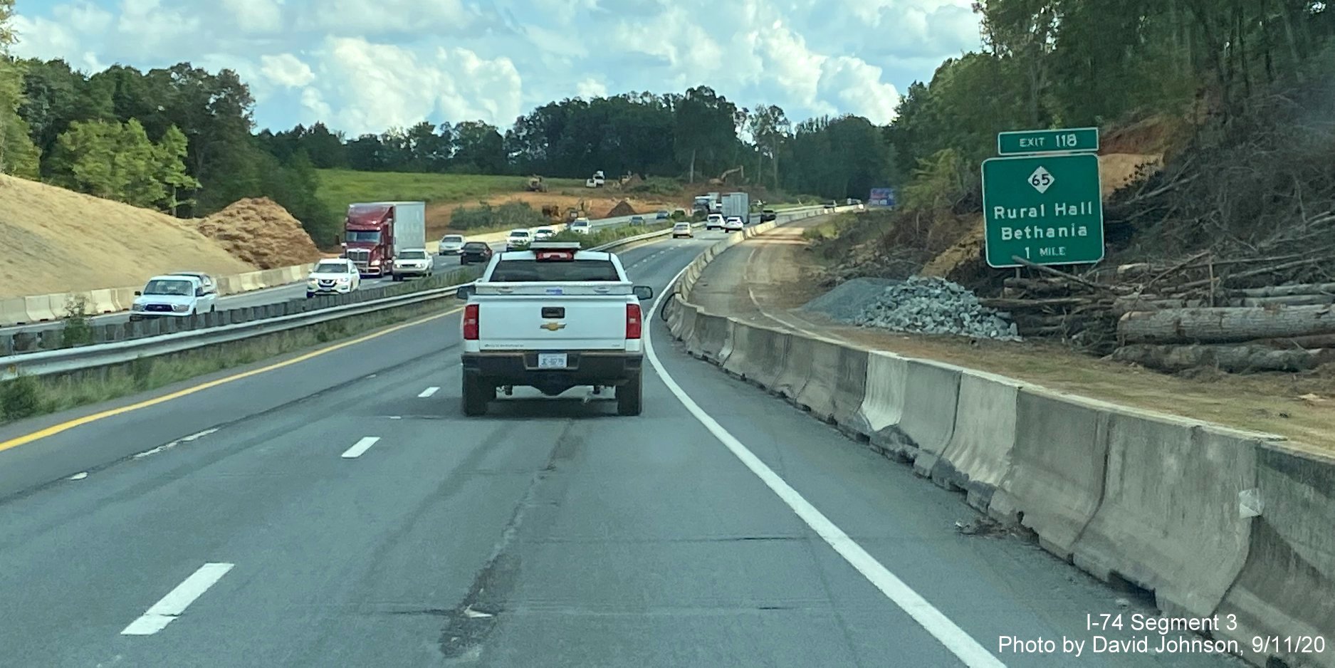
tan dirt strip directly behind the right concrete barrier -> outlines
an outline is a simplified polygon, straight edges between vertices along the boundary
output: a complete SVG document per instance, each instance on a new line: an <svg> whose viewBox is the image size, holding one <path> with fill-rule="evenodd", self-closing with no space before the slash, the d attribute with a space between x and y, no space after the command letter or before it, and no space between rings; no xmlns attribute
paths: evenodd
<svg viewBox="0 0 1335 668"><path fill-rule="evenodd" d="M1211 370L1167 375L1079 354L1049 342L1000 342L901 334L842 325L800 310L816 287L810 218L749 239L718 255L690 301L709 313L793 331L821 334L873 350L939 359L1008 375L1053 390L1283 436L1335 450L1335 370L1231 375Z"/></svg>

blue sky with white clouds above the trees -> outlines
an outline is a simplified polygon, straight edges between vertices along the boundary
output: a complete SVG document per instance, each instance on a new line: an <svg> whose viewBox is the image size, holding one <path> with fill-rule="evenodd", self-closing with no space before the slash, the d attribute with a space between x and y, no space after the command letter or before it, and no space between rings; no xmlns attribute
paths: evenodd
<svg viewBox="0 0 1335 668"><path fill-rule="evenodd" d="M19 0L15 53L236 69L259 127L350 134L705 84L790 119L893 115L979 48L969 0Z"/></svg>

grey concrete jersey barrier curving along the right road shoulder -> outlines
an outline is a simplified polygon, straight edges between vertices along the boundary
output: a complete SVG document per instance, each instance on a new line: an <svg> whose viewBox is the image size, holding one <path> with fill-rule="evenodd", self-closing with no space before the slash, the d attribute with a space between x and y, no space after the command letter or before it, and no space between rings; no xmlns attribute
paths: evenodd
<svg viewBox="0 0 1335 668"><path fill-rule="evenodd" d="M1335 668L1335 648L1252 645L1335 640L1335 458L702 311L690 289L740 240L708 248L674 287L669 330L688 349L913 461L1077 568L1152 591L1164 615L1236 620L1212 637L1256 665Z"/></svg>

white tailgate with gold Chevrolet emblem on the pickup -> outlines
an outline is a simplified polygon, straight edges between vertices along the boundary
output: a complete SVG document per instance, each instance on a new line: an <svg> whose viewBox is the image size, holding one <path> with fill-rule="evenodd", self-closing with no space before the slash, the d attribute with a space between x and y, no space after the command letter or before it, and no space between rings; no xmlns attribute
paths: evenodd
<svg viewBox="0 0 1335 668"><path fill-rule="evenodd" d="M625 350L634 297L477 295L481 350Z"/></svg>

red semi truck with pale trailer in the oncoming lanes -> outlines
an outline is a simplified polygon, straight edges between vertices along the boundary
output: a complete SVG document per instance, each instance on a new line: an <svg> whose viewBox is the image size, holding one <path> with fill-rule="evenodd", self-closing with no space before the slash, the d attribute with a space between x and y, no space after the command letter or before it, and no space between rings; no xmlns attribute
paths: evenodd
<svg viewBox="0 0 1335 668"><path fill-rule="evenodd" d="M426 247L426 202L356 202L347 206L343 257L363 277L387 277L406 248Z"/></svg>

